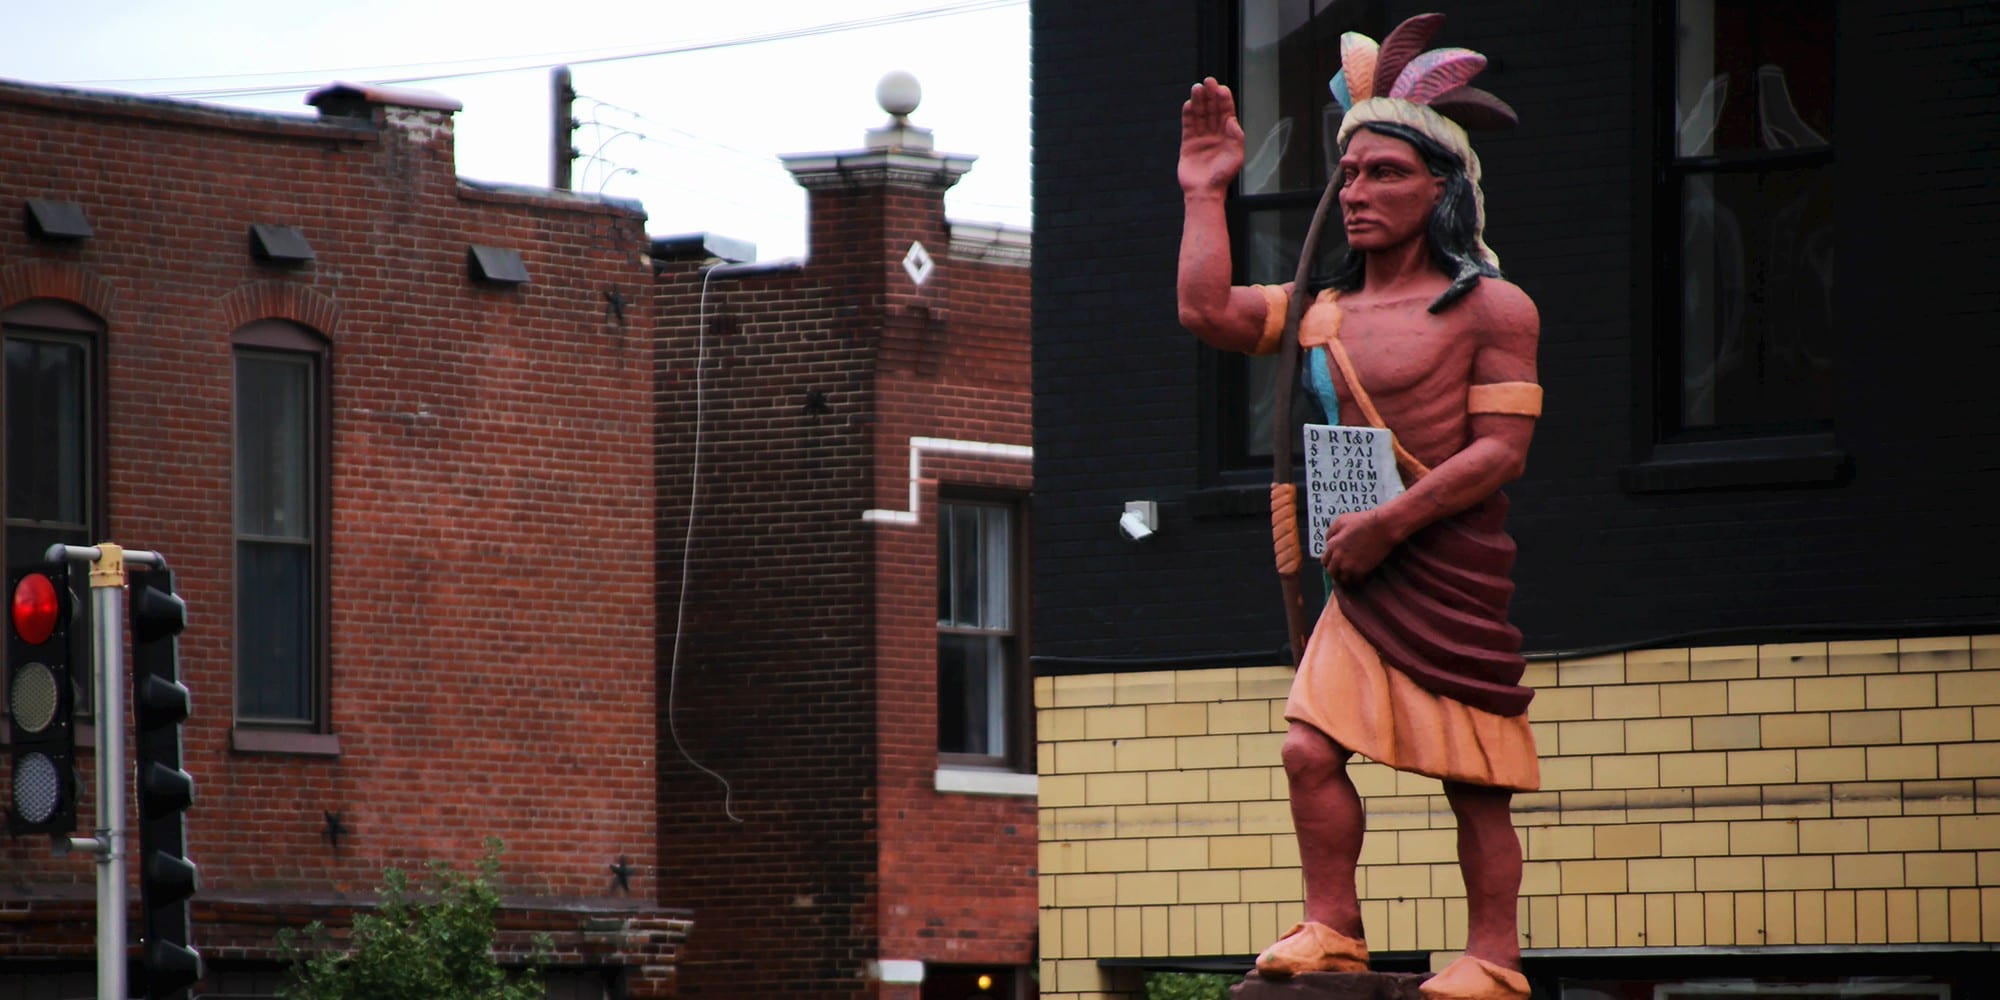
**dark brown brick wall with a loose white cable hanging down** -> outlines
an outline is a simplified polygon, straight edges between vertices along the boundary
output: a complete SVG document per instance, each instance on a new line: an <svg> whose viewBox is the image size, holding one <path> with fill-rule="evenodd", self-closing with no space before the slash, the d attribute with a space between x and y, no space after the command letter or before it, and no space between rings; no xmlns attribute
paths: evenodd
<svg viewBox="0 0 2000 1000"><path fill-rule="evenodd" d="M714 284L658 296L658 836L702 912L686 996L826 980L874 930L866 334L832 280Z"/></svg>

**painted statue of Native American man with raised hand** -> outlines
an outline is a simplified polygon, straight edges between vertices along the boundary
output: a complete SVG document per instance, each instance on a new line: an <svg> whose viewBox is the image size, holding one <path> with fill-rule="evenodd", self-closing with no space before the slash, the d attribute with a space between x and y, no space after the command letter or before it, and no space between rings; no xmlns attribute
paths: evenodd
<svg viewBox="0 0 2000 1000"><path fill-rule="evenodd" d="M1466 140L1466 126L1512 124L1514 112L1466 86L1484 56L1424 52L1442 22L1410 18L1380 46L1354 32L1340 40L1332 92L1346 116L1328 194L1348 250L1324 276L1302 264L1292 284L1230 284L1224 200L1244 130L1226 86L1194 86L1180 116L1180 322L1222 350L1296 352L1280 370L1296 366L1326 422L1388 428L1404 480L1388 502L1334 518L1320 558L1332 594L1310 638L1302 612L1292 628L1302 652L1282 756L1306 920L1258 956L1258 974L1368 968L1354 888L1366 812L1346 772L1366 754L1442 780L1458 818L1466 954L1424 994L1526 998L1510 800L1540 786L1540 768L1526 716L1534 692L1520 686L1520 632L1506 618L1514 542L1500 488L1522 474L1542 412L1540 318L1482 238L1480 160ZM1278 568L1292 574L1294 486L1290 470L1276 478Z"/></svg>

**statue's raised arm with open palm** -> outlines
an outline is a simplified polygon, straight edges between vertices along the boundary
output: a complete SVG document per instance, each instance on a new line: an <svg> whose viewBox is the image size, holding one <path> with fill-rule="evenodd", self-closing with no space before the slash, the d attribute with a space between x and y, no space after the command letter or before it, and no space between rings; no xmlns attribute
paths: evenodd
<svg viewBox="0 0 2000 1000"><path fill-rule="evenodd" d="M1180 324L1222 350L1252 352L1264 336L1268 304L1262 292L1232 286L1230 226L1224 214L1230 182L1244 164L1244 130L1236 98L1214 78L1194 84L1180 106Z"/></svg>

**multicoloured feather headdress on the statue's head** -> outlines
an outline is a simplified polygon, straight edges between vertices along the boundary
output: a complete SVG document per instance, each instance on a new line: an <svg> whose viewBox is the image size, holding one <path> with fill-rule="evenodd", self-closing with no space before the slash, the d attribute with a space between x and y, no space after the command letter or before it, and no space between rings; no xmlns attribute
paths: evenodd
<svg viewBox="0 0 2000 1000"><path fill-rule="evenodd" d="M1466 138L1468 128L1508 128L1518 122L1514 108L1470 80L1486 68L1486 56L1470 48L1424 46L1444 28L1444 14L1418 14L1376 44L1360 32L1340 36L1340 72L1328 88L1346 116L1340 120L1338 142L1346 150L1348 136L1368 122L1396 122L1414 128L1466 162L1478 204L1476 238L1480 256L1500 266L1498 254L1486 246L1486 194L1480 192L1480 158Z"/></svg>

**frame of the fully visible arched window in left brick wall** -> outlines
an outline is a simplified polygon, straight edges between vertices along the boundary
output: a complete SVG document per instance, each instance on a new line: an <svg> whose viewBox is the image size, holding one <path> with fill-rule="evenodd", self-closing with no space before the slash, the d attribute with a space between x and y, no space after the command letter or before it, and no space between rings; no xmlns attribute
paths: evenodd
<svg viewBox="0 0 2000 1000"><path fill-rule="evenodd" d="M242 628L244 628L244 600L242 600L242 554L240 546L246 540L264 540L262 536L246 536L242 532L242 470L240 462L240 436L242 420L238 414L236 392L240 388L240 362L244 358L272 358L292 364L304 364L306 386L310 398L306 400L306 418L310 428L306 428L306 448L310 454L304 462L304 472L308 482L304 484L306 504L312 516L312 526L306 532L304 546L308 546L310 566L306 570L306 580L312 586L312 598L308 604L308 614L312 618L312 638L306 642L306 656L310 658L308 682L306 682L306 702L308 718L288 720L288 718L260 718L246 716L242 712ZM234 746L238 750L276 750L276 752L338 752L338 744L326 740L312 740L312 736L330 734L330 706L332 706L332 348L314 330L290 322L290 320L252 320L230 334L230 566L232 580L232 630L230 630L230 702L234 714ZM294 738L288 738L294 736ZM300 738L302 736L302 738Z"/></svg>

